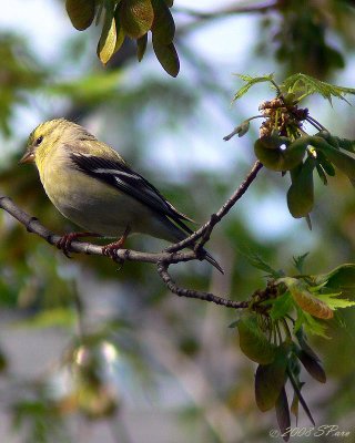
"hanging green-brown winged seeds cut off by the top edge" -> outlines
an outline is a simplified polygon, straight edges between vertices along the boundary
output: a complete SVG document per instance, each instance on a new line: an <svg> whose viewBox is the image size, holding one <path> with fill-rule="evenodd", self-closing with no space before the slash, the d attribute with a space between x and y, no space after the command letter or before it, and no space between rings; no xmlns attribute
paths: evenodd
<svg viewBox="0 0 355 443"><path fill-rule="evenodd" d="M102 18L98 56L103 64L121 49L125 38L136 41L141 61L152 33L153 50L163 69L172 76L180 70L173 40L175 23L170 12L172 0L67 0L68 16L75 29L83 31Z"/></svg>

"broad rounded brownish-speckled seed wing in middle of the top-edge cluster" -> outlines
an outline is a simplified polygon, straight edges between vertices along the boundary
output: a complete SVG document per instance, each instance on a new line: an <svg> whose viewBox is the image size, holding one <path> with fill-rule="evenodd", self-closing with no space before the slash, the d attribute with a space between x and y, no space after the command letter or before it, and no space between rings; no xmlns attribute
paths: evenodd
<svg viewBox="0 0 355 443"><path fill-rule="evenodd" d="M120 22L126 35L139 39L152 28L154 11L151 0L121 0Z"/></svg>

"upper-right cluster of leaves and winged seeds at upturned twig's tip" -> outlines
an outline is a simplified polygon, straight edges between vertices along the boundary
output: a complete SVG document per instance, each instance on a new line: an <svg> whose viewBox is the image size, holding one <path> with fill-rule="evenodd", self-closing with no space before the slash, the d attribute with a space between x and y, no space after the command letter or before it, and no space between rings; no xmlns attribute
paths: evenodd
<svg viewBox="0 0 355 443"><path fill-rule="evenodd" d="M305 74L294 74L277 84L273 74L263 76L240 75L244 85L235 93L234 101L241 99L253 85L267 82L276 91L276 97L260 105L261 115L252 116L239 125L232 134L244 135L250 121L263 119L260 138L254 143L257 159L268 169L291 176L287 206L293 217L307 217L314 206L314 172L324 185L327 177L341 169L351 183L355 183L355 142L329 133L310 115L307 109L298 107L300 102L312 94L320 94L332 104L332 97L345 100L346 94L355 94L352 87L322 82ZM304 123L310 123L317 133L308 135Z"/></svg>

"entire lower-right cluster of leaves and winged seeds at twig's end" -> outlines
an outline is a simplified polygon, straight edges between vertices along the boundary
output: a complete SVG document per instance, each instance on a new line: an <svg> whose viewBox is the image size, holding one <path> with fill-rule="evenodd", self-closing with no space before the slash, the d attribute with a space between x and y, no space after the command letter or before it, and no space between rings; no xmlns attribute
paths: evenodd
<svg viewBox="0 0 355 443"><path fill-rule="evenodd" d="M248 311L232 323L236 327L242 352L258 363L255 374L255 399L263 412L275 408L280 429L287 441L291 412L298 418L298 403L314 424L310 409L301 393L302 367L318 382L326 375L320 358L307 343L306 332L325 336L325 324L334 311L355 306L355 301L339 298L355 293L355 265L345 264L327 274L288 277L274 270L257 255L251 262L266 271L271 280L265 291L256 291L251 298ZM300 272L306 255L294 258ZM294 318L296 316L296 318ZM293 389L291 406L285 385Z"/></svg>

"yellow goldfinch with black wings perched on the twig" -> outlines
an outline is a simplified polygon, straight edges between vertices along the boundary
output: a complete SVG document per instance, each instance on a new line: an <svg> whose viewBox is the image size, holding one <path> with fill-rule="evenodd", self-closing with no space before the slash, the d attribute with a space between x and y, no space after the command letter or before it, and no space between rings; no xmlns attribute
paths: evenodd
<svg viewBox="0 0 355 443"><path fill-rule="evenodd" d="M176 243L192 230L178 212L144 177L110 146L82 126L64 119L44 122L30 134L21 163L34 162L48 197L60 213L90 233L63 236L58 246L68 255L80 236L120 238L103 247L114 257L133 233ZM205 259L223 272L214 258Z"/></svg>

